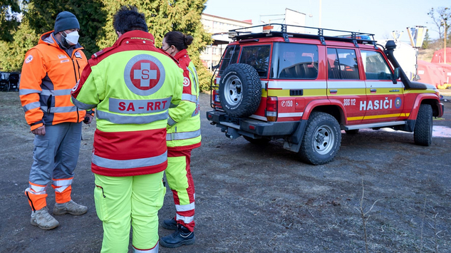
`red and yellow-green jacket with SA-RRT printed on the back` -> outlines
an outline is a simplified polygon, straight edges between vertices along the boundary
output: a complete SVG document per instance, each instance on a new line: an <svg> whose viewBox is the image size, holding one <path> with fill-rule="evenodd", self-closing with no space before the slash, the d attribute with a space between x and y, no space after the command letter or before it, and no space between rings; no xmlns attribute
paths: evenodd
<svg viewBox="0 0 451 253"><path fill-rule="evenodd" d="M155 48L144 31L124 33L95 53L72 100L97 108L91 170L124 177L157 173L167 167L168 110L182 99L182 70Z"/></svg>

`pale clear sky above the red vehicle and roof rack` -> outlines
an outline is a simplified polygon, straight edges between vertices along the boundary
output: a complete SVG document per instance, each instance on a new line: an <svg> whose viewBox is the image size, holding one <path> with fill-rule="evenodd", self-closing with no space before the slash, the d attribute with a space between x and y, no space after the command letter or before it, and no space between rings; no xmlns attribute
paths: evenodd
<svg viewBox="0 0 451 253"><path fill-rule="evenodd" d="M253 26L263 24L261 21L282 23L285 9L306 14L306 26L319 25L320 0L207 0L206 6L205 14L240 21L252 19ZM408 26L427 26L430 38L439 38L437 26L427 15L431 8L438 7L451 8L451 1L321 0L321 27L373 33L375 39L391 39L392 31L403 31L400 40L409 41Z"/></svg>

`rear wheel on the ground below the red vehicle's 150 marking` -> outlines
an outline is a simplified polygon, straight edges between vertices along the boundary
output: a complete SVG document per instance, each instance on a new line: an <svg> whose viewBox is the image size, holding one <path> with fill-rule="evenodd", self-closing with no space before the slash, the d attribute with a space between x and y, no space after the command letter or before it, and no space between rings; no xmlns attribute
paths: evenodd
<svg viewBox="0 0 451 253"><path fill-rule="evenodd" d="M328 113L311 113L299 150L301 159L313 165L331 162L340 145L341 130L336 118Z"/></svg>

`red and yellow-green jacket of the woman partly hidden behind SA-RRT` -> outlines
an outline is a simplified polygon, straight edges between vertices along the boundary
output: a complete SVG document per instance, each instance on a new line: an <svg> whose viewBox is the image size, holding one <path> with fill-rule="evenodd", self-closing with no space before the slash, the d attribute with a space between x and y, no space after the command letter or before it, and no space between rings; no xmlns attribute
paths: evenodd
<svg viewBox="0 0 451 253"><path fill-rule="evenodd" d="M183 69L182 102L177 108L169 110L167 122L167 148L170 150L189 150L200 146L200 115L199 115L199 78L197 71L187 55L186 49L178 52L175 57Z"/></svg>

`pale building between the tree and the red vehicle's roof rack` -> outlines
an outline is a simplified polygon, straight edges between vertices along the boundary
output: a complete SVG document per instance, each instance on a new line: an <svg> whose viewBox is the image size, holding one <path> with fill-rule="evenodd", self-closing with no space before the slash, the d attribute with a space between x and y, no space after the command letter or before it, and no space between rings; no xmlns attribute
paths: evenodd
<svg viewBox="0 0 451 253"><path fill-rule="evenodd" d="M213 43L208 45L200 55L200 59L210 70L212 70L212 66L216 66L219 63L224 49L232 41L227 32L232 29L252 26L252 20L238 21L209 14L202 14L201 21L205 30L212 33L213 38Z"/></svg>

